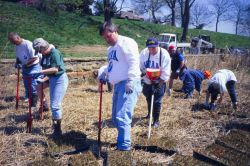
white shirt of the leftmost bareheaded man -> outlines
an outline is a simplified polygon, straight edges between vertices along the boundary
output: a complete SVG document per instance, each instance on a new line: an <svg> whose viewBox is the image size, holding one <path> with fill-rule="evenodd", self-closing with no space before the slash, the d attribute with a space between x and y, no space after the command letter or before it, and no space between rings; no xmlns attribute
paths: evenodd
<svg viewBox="0 0 250 166"><path fill-rule="evenodd" d="M31 58L38 57L38 55L35 55L35 50L33 49L32 42L25 39L23 39L21 44L16 45L15 52L16 58L20 60L22 65L26 65ZM37 63L39 63L39 58L37 58L37 60L35 60L32 64Z"/></svg>

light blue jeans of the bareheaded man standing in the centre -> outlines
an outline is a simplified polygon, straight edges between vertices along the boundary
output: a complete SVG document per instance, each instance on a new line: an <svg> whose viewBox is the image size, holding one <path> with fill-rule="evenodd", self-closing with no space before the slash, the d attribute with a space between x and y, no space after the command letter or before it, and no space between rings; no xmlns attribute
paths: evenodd
<svg viewBox="0 0 250 166"><path fill-rule="evenodd" d="M114 86L112 121L118 130L117 149L130 150L131 123L138 96L142 91L141 81L133 81L133 93L126 94L127 81L121 81Z"/></svg>

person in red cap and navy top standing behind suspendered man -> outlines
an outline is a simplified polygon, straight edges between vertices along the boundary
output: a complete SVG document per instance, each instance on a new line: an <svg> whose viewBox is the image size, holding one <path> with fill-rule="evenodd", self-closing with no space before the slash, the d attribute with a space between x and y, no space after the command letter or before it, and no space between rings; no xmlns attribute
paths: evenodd
<svg viewBox="0 0 250 166"><path fill-rule="evenodd" d="M179 74L183 71L184 68L186 68L185 62L184 62L184 56L176 50L175 46L170 45L168 48L168 52L171 57L171 75L169 79L169 86L168 86L168 95L171 95L172 87L174 83L174 79L178 79Z"/></svg>

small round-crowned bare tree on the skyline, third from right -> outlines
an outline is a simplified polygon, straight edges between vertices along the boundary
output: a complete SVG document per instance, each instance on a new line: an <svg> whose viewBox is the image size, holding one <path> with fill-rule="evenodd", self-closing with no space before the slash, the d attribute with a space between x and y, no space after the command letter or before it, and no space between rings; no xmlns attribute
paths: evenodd
<svg viewBox="0 0 250 166"><path fill-rule="evenodd" d="M207 6L202 3L195 3L191 9L190 24L196 29L203 29L204 26L210 24L212 15Z"/></svg>

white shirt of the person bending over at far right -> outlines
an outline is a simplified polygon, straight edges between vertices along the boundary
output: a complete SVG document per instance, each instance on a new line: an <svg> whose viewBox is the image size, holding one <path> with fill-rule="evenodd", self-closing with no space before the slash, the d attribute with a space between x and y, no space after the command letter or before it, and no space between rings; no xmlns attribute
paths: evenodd
<svg viewBox="0 0 250 166"><path fill-rule="evenodd" d="M215 73L213 75L213 77L208 81L208 86L211 83L215 82L215 83L218 83L220 85L220 92L221 93L227 92L226 83L228 81L237 82L237 79L231 70L221 69L221 70L217 71L217 73Z"/></svg>

